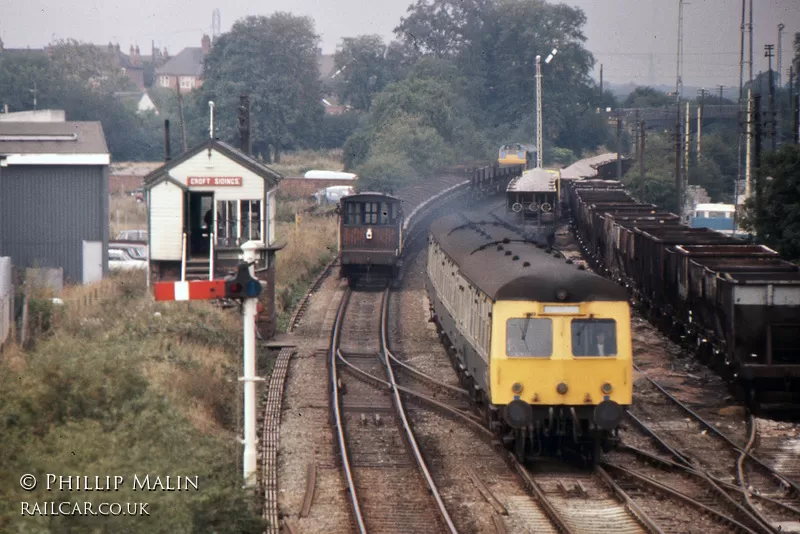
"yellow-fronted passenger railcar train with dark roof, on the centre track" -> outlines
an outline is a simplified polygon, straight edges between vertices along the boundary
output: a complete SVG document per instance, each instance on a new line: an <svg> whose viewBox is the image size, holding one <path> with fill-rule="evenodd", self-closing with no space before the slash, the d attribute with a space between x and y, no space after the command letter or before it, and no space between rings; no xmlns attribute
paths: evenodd
<svg viewBox="0 0 800 534"><path fill-rule="evenodd" d="M432 313L465 387L521 460L596 459L633 395L627 294L545 247L483 212L438 219Z"/></svg>

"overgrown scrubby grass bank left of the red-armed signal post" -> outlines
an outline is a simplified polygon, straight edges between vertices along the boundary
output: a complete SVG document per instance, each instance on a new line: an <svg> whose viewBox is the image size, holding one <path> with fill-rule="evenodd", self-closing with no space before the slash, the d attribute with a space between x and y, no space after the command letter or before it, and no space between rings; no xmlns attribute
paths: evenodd
<svg viewBox="0 0 800 534"><path fill-rule="evenodd" d="M108 495L24 493L20 473L198 475L197 493L130 493L149 518L104 518L109 532L261 532L239 482L241 320L210 303L156 303L143 273L69 288L50 328L0 360L0 531L94 532L96 518L20 517L20 501ZM44 299L42 299L44 302ZM41 486L41 485L40 485ZM141 496L138 496L141 497Z"/></svg>

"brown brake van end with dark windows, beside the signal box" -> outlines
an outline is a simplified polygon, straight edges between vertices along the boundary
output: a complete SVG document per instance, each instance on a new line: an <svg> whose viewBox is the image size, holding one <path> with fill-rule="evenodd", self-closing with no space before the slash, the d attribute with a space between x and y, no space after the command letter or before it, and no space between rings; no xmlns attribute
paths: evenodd
<svg viewBox="0 0 800 534"><path fill-rule="evenodd" d="M394 277L402 265L401 200L383 193L358 193L339 201L339 263L342 277Z"/></svg>

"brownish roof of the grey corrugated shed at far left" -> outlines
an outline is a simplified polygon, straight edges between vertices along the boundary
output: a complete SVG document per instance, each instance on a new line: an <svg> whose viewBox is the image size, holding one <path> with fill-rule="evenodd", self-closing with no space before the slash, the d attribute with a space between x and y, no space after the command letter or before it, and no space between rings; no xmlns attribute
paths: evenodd
<svg viewBox="0 0 800 534"><path fill-rule="evenodd" d="M108 154L97 122L2 122L0 154Z"/></svg>

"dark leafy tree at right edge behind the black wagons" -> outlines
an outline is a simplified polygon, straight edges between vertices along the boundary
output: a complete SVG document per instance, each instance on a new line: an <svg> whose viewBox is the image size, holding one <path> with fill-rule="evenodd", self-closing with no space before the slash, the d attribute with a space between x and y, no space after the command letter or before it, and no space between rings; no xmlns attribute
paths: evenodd
<svg viewBox="0 0 800 534"><path fill-rule="evenodd" d="M783 145L765 154L758 169L763 185L759 213L755 195L745 202L743 225L790 259L800 259L800 146Z"/></svg>

